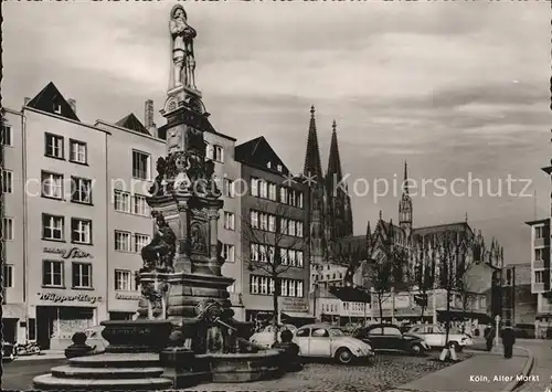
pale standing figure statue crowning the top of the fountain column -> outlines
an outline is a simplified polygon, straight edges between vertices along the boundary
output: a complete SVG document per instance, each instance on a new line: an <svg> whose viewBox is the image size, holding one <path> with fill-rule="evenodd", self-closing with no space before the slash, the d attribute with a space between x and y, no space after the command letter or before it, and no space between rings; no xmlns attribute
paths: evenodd
<svg viewBox="0 0 552 392"><path fill-rule="evenodd" d="M180 86L195 89L195 59L193 39L197 31L188 24L184 8L177 4L171 10L169 22L172 39L172 75L170 88Z"/></svg>

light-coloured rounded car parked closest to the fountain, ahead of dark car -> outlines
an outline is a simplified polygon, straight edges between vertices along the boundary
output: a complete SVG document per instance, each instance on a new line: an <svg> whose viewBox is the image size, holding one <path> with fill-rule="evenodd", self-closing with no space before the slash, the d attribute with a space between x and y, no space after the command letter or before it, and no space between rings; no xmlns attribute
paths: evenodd
<svg viewBox="0 0 552 392"><path fill-rule="evenodd" d="M295 332L294 341L299 346L301 357L335 358L344 364L374 356L370 345L326 324L302 326Z"/></svg>

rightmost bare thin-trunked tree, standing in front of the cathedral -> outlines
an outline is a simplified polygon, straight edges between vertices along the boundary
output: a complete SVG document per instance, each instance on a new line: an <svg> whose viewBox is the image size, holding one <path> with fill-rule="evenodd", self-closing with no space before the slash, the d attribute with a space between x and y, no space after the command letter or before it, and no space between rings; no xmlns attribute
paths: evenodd
<svg viewBox="0 0 552 392"><path fill-rule="evenodd" d="M445 322L445 350L448 350L448 336L450 332L450 301L461 290L463 282L469 269L470 258L468 251L471 245L470 239L460 237L457 232L446 231L439 235L439 286L446 292L446 322ZM445 356L445 358L448 353Z"/></svg>

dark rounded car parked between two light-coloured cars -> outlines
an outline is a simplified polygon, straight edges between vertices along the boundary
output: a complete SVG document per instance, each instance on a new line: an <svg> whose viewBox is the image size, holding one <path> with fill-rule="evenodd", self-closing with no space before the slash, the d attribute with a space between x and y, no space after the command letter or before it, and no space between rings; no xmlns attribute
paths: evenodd
<svg viewBox="0 0 552 392"><path fill-rule="evenodd" d="M405 335L392 324L375 324L359 329L354 337L371 345L374 351L400 351L416 356L429 351L429 346L423 339Z"/></svg>

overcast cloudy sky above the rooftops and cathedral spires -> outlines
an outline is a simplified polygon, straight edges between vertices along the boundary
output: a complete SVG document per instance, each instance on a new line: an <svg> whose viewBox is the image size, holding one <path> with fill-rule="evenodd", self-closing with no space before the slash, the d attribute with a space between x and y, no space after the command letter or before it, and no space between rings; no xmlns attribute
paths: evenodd
<svg viewBox="0 0 552 392"><path fill-rule="evenodd" d="M530 261L523 222L548 216L550 4L535 2L182 2L195 40L197 84L214 127L238 142L264 135L302 170L309 107L326 170L338 123L349 188L411 177L491 181L502 195L414 197L414 224L468 222ZM168 86L172 2L3 3L3 105L50 81L83 121L144 119ZM164 124L158 116L157 124ZM506 179L531 179L509 197ZM468 191L457 182L457 193ZM512 192L520 193L521 182ZM383 191L383 189L381 188ZM487 193L486 189L485 193ZM418 193L421 190L418 190ZM439 193L437 191L437 193ZM397 220L399 194L353 197L354 231Z"/></svg>

